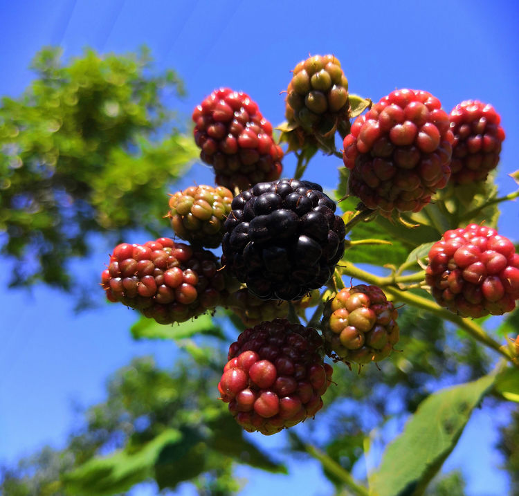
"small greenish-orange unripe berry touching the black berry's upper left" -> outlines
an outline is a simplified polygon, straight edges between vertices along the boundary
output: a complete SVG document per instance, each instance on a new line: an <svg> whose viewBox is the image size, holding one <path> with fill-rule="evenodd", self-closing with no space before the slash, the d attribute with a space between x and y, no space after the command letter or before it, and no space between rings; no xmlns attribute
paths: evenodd
<svg viewBox="0 0 519 496"><path fill-rule="evenodd" d="M226 187L191 186L172 194L167 217L179 238L216 248L224 236L224 222L232 201L233 193Z"/></svg>

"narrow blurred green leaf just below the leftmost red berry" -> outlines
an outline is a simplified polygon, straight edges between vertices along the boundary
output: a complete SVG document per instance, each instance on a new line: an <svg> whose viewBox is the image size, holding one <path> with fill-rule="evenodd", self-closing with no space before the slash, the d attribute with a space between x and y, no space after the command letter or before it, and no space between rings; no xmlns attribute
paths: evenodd
<svg viewBox="0 0 519 496"><path fill-rule="evenodd" d="M200 315L197 318L181 324L158 324L155 320L141 316L130 328L134 339L185 339L197 334L216 336L224 339L221 327L217 326L210 315Z"/></svg>

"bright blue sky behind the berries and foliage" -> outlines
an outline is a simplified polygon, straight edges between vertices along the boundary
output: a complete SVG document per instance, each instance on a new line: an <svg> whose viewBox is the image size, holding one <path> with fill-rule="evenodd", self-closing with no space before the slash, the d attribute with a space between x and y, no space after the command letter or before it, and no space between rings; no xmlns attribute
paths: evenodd
<svg viewBox="0 0 519 496"><path fill-rule="evenodd" d="M349 91L372 100L408 87L430 91L446 111L469 98L493 104L507 133L498 187L502 194L514 189L507 174L519 168L516 1L2 0L0 5L0 95L23 91L33 77L30 60L42 46L60 45L70 57L86 46L126 53L146 44L157 68L174 68L184 80L188 98L177 108L186 117L213 89L229 86L248 93L277 124L284 119L280 92L289 83L289 71L308 54L333 53L342 62ZM318 154L305 178L331 188L340 165ZM289 156L284 176L294 166ZM195 165L182 185L195 180L211 183L210 169ZM518 212L517 203L509 203L500 219L500 232L516 240ZM100 244L74 270L97 274L110 248ZM161 365L174 360L171 343L131 340L128 328L136 315L122 306L103 304L75 316L73 302L63 293L44 287L8 291L6 279L0 274L0 459L15 460L42 443L59 446L73 422L71 399L84 405L101 401L104 379L131 357L152 353ZM471 496L506 491L506 480L496 472L499 459L489 450L491 425L484 411L477 412L462 446L447 461L455 468L468 457ZM318 487L320 494L329 492L316 466L294 467L296 473L315 474L308 494L318 494ZM246 476L258 478L256 472ZM489 477L490 486L485 485ZM289 484L286 478L265 480L280 492ZM244 494L255 491L260 493L259 483L249 484Z"/></svg>

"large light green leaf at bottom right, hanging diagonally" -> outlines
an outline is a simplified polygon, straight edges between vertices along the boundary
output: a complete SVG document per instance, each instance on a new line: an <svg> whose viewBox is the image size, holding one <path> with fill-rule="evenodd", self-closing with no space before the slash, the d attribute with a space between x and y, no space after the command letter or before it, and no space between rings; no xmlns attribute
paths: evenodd
<svg viewBox="0 0 519 496"><path fill-rule="evenodd" d="M491 389L495 375L448 387L423 401L383 454L372 495L417 496L455 447L474 407Z"/></svg>

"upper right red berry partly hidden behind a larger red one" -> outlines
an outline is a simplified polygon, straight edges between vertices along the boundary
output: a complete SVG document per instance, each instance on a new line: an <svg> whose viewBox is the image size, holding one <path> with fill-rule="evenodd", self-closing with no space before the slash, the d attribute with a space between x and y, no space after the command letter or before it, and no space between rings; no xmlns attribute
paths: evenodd
<svg viewBox="0 0 519 496"><path fill-rule="evenodd" d="M450 111L449 120L454 134L450 182L484 181L499 162L504 140L500 115L491 104L465 100Z"/></svg>

